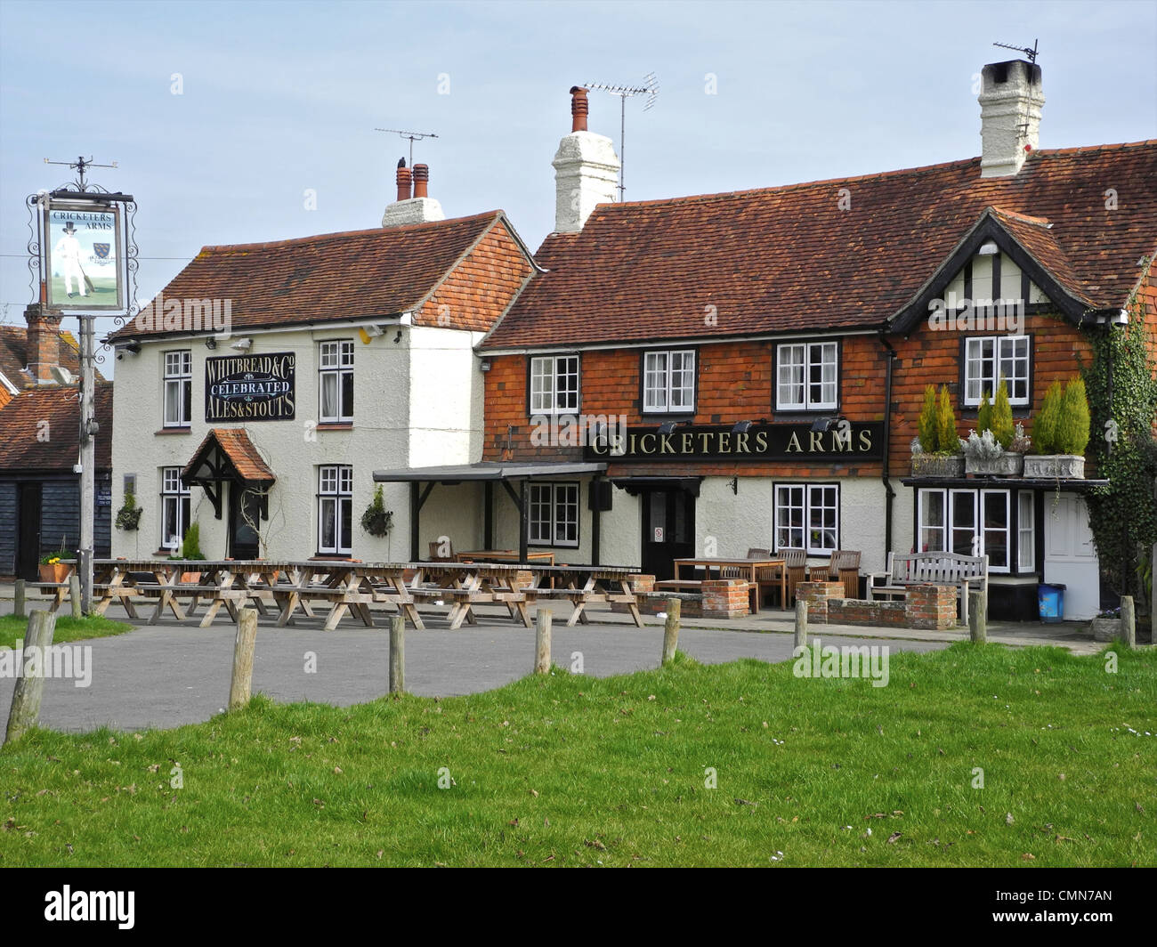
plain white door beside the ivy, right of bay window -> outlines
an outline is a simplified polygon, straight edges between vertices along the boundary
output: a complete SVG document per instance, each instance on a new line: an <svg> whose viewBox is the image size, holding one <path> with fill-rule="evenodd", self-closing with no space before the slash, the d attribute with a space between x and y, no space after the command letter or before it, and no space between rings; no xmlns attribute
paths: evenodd
<svg viewBox="0 0 1157 947"><path fill-rule="evenodd" d="M1045 493L1045 581L1066 586L1066 621L1096 617L1100 610L1097 575L1097 550L1084 498Z"/></svg>

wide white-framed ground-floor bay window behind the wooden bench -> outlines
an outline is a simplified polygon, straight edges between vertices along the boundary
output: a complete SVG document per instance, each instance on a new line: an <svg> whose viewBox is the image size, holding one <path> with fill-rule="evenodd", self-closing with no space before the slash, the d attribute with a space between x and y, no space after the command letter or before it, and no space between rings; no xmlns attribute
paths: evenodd
<svg viewBox="0 0 1157 947"><path fill-rule="evenodd" d="M1025 512L1027 505L1027 513ZM993 572L1011 572L1012 507L1008 490L921 490L916 500L919 552L987 556ZM1019 570L1033 570L1032 492L1018 494ZM946 534L946 535L945 535ZM1025 559L1027 550L1027 560Z"/></svg>

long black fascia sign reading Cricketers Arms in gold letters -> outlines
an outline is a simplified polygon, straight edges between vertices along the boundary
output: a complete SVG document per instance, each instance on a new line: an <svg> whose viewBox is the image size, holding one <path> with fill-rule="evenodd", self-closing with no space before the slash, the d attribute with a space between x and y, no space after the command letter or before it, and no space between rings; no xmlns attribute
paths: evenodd
<svg viewBox="0 0 1157 947"><path fill-rule="evenodd" d="M810 424L676 425L631 427L591 439L588 460L610 461L878 461L884 456L884 423L840 420L830 431Z"/></svg>

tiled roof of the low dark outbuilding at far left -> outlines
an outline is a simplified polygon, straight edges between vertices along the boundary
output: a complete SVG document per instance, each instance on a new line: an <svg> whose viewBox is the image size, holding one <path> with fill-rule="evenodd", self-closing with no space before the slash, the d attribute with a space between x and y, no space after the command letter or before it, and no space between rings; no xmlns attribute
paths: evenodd
<svg viewBox="0 0 1157 947"><path fill-rule="evenodd" d="M80 460L80 389L76 386L27 388L0 410L0 471L71 472ZM96 468L112 468L112 384L94 395ZM47 424L42 424L47 421Z"/></svg>

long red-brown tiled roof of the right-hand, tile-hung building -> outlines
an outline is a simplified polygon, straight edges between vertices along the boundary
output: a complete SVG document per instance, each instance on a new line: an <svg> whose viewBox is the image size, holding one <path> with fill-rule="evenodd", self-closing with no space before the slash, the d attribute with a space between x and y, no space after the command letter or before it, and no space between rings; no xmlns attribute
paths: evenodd
<svg viewBox="0 0 1157 947"><path fill-rule="evenodd" d="M581 233L546 238L536 259L551 272L533 278L482 347L878 326L986 208L998 208L1001 223L1078 299L1121 307L1138 258L1157 245L1157 141L1037 151L1010 177L982 178L977 157L599 205Z"/></svg>

